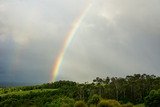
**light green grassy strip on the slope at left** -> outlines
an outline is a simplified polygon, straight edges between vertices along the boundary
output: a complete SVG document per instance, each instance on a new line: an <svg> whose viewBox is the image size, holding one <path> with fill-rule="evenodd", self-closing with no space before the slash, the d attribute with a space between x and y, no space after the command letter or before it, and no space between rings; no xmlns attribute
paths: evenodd
<svg viewBox="0 0 160 107"><path fill-rule="evenodd" d="M44 91L55 91L57 89L35 89L35 90L28 90L28 91L13 91L13 92L8 92L5 94L0 94L0 96L6 96L6 95L26 95L29 94L30 92L44 92Z"/></svg>

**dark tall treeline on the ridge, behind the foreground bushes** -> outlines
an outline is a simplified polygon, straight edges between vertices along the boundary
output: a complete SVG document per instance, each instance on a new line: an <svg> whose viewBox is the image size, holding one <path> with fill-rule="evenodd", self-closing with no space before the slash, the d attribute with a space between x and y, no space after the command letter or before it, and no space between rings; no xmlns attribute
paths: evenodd
<svg viewBox="0 0 160 107"><path fill-rule="evenodd" d="M92 83L78 84L72 81L57 81L43 84L41 88L59 88L62 93L76 100L88 101L90 96L98 94L105 99L138 104L144 102L144 98L151 90L160 89L160 77L146 74L134 74L125 78L97 77Z"/></svg>

